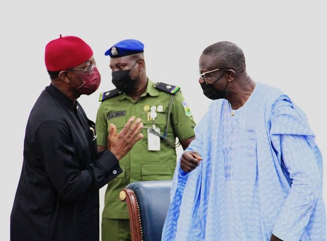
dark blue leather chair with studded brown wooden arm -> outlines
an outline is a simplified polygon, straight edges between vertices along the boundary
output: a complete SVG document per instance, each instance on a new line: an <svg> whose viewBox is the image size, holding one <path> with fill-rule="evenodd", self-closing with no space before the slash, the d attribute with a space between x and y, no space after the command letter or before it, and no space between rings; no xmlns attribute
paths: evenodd
<svg viewBox="0 0 327 241"><path fill-rule="evenodd" d="M132 241L160 241L170 204L171 180L130 183L120 192L126 202Z"/></svg>

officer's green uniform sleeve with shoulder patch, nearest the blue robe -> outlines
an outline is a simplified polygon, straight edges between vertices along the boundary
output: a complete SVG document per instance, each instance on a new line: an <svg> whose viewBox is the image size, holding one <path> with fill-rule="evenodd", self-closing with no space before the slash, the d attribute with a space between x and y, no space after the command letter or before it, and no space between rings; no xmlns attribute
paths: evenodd
<svg viewBox="0 0 327 241"><path fill-rule="evenodd" d="M184 100L181 91L175 94L171 112L172 125L179 140L188 139L195 135L195 121L191 110Z"/></svg>

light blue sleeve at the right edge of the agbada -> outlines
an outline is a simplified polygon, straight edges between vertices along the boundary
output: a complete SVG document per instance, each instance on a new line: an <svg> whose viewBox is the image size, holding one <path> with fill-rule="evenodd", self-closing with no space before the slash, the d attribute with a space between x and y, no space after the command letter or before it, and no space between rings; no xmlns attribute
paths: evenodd
<svg viewBox="0 0 327 241"><path fill-rule="evenodd" d="M274 223L272 233L283 240L300 240L316 206L320 174L308 143L309 125L290 101L276 103L271 118L271 140L290 190Z"/></svg>

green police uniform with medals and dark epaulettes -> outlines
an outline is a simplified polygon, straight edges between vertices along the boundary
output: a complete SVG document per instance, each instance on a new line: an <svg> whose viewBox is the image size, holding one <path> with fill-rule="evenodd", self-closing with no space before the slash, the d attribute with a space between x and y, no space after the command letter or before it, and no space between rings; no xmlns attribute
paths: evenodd
<svg viewBox="0 0 327 241"><path fill-rule="evenodd" d="M120 190L135 181L172 179L176 149L169 142L175 144L176 137L183 140L194 136L195 122L178 86L154 83L149 79L146 91L138 100L113 90L101 93L100 101L96 120L98 145L107 145L110 123L116 125L119 132L129 117L136 116L142 118L146 127L142 129L144 138L120 161L123 172L108 183L105 194L102 217L127 219L126 203L119 200ZM148 136L151 129L160 133L161 138L153 134ZM110 234L111 231L114 230L110 230Z"/></svg>

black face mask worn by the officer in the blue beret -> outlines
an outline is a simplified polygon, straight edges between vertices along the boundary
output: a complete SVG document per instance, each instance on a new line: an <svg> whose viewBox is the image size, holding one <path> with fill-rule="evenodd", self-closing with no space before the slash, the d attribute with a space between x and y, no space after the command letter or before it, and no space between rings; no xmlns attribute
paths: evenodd
<svg viewBox="0 0 327 241"><path fill-rule="evenodd" d="M121 70L121 71L114 71L112 72L112 83L116 88L122 92L125 93L130 93L133 90L133 87L136 83L136 80L139 77L139 72L138 76L136 79L131 78L131 70L135 67L137 61L133 65L133 67L130 70Z"/></svg>

